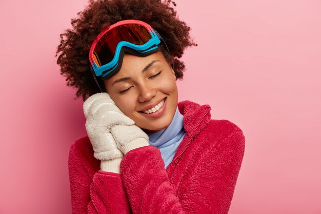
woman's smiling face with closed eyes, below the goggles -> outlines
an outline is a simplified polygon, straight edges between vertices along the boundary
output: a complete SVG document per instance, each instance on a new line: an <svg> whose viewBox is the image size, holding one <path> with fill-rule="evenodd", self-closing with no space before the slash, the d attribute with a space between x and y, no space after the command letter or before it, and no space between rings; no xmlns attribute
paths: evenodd
<svg viewBox="0 0 321 214"><path fill-rule="evenodd" d="M125 53L121 70L104 84L118 108L150 133L172 122L178 100L175 81L173 69L157 51L145 57Z"/></svg>

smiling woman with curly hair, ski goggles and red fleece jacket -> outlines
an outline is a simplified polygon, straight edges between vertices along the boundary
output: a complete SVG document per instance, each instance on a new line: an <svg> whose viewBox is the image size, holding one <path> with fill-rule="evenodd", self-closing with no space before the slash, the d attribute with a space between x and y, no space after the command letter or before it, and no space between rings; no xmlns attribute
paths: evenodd
<svg viewBox="0 0 321 214"><path fill-rule="evenodd" d="M177 58L196 44L170 1L90 1L78 15L57 49L85 101L73 213L228 213L245 138L208 105L177 103Z"/></svg>

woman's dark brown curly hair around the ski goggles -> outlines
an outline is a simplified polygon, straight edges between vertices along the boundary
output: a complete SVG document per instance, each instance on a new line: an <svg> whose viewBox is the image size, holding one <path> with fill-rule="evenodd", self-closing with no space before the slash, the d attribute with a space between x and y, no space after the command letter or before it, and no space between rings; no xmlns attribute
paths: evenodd
<svg viewBox="0 0 321 214"><path fill-rule="evenodd" d="M92 94L101 92L94 81L88 59L89 49L96 36L110 25L122 20L141 20L152 26L166 42L170 54L163 45L160 51L173 65L177 79L183 79L184 62L178 60L193 42L190 27L180 21L176 11L170 7L171 0L89 0L83 11L71 19L71 29L60 34L57 47L57 64L66 77L67 86L77 89L76 97L85 101ZM103 81L97 78L98 84ZM102 87L101 87L102 88Z"/></svg>

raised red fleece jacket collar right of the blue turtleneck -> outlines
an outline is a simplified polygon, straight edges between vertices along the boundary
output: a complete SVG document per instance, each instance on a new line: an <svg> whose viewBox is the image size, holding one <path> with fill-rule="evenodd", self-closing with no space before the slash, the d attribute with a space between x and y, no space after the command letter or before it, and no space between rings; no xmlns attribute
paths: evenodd
<svg viewBox="0 0 321 214"><path fill-rule="evenodd" d="M211 120L211 107L199 105L191 101L182 101L177 104L178 110L184 115L183 127L192 140L202 131Z"/></svg>

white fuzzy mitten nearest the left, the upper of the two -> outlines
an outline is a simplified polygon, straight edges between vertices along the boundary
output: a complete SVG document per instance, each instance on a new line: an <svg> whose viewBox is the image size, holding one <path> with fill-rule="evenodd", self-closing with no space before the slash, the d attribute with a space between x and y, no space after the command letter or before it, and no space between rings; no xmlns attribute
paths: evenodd
<svg viewBox="0 0 321 214"><path fill-rule="evenodd" d="M84 102L83 108L94 157L101 160L102 170L120 173L123 153L117 148L110 128L116 124L130 126L134 121L115 105L108 93L93 94Z"/></svg>

